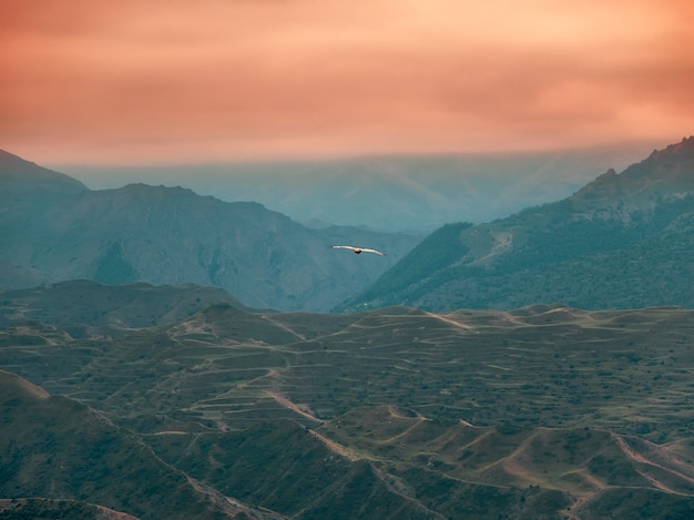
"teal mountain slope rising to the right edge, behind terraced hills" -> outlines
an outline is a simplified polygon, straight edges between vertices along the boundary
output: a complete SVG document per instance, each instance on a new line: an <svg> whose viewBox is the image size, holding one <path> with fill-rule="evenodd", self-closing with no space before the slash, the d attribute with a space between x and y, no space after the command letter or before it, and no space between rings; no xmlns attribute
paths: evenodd
<svg viewBox="0 0 694 520"><path fill-rule="evenodd" d="M439 228L338 309L694 306L694 137L574 195Z"/></svg>

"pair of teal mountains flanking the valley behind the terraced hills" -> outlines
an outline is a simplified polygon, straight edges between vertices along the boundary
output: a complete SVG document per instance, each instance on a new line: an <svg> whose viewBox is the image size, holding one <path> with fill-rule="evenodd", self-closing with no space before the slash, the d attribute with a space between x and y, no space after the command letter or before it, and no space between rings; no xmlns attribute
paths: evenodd
<svg viewBox="0 0 694 520"><path fill-rule="evenodd" d="M692 306L693 156L694 139L684 139L561 201L422 236L306 227L255 202L182 187L92 191L2 152L0 288L76 278L194 283L286 312ZM329 247L343 243L389 255Z"/></svg>

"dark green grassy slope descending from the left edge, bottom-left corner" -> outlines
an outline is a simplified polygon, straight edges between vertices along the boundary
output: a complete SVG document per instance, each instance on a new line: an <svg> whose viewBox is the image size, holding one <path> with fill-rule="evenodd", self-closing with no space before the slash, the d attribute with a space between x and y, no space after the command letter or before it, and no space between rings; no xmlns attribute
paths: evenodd
<svg viewBox="0 0 694 520"><path fill-rule="evenodd" d="M4 371L0 395L0 496L78 499L141 519L232 517L102 414Z"/></svg>

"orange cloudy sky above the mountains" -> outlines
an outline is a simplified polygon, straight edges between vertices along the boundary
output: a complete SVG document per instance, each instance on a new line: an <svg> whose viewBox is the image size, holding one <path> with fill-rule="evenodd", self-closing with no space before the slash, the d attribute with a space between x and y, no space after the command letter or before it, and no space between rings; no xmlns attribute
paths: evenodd
<svg viewBox="0 0 694 520"><path fill-rule="evenodd" d="M692 0L2 0L0 149L43 164L694 133Z"/></svg>

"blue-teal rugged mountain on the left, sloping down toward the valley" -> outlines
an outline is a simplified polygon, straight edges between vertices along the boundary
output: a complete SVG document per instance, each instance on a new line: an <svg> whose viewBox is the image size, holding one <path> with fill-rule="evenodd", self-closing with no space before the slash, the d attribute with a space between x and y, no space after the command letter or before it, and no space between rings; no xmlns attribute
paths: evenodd
<svg viewBox="0 0 694 520"><path fill-rule="evenodd" d="M419 241L356 227L308 230L256 203L181 187L90 191L0 156L0 287L63 279L211 285L253 307L327 310L367 287ZM387 257L330 244L368 244Z"/></svg>

